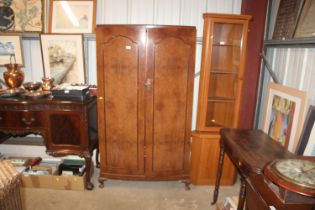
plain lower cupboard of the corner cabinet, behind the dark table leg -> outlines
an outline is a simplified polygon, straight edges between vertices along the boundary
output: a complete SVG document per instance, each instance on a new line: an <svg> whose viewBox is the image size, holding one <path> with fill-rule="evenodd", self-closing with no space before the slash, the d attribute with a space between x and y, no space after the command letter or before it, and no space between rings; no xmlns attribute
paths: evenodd
<svg viewBox="0 0 315 210"><path fill-rule="evenodd" d="M219 163L220 145L218 134L194 133L191 147L191 182L196 185L213 185L216 181ZM227 157L224 157L222 185L233 185L236 170Z"/></svg>

